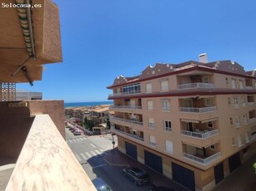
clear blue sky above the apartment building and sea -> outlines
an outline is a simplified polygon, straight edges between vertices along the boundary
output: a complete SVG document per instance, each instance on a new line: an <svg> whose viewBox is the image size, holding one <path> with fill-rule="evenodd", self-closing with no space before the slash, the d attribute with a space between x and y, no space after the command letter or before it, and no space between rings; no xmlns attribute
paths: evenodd
<svg viewBox="0 0 256 191"><path fill-rule="evenodd" d="M45 100L108 100L116 76L156 62L232 60L256 68L254 0L54 0L60 10L63 63L18 89Z"/></svg>

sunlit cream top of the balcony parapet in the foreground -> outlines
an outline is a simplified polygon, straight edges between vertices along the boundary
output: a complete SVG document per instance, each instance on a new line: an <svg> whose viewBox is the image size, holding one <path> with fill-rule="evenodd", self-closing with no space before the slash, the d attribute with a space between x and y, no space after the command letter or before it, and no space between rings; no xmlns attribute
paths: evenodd
<svg viewBox="0 0 256 191"><path fill-rule="evenodd" d="M49 115L35 115L6 190L35 188L96 190Z"/></svg>

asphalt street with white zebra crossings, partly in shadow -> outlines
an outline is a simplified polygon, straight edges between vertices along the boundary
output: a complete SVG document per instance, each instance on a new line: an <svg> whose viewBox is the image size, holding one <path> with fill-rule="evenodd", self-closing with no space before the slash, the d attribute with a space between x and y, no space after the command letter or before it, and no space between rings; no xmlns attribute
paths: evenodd
<svg viewBox="0 0 256 191"><path fill-rule="evenodd" d="M114 136L117 143L117 138ZM126 165L111 165L104 160L107 154L114 154L111 135L84 136L73 135L66 129L66 142L77 157L89 179L102 178L113 190L149 190L150 184L135 186L133 182L123 177Z"/></svg>

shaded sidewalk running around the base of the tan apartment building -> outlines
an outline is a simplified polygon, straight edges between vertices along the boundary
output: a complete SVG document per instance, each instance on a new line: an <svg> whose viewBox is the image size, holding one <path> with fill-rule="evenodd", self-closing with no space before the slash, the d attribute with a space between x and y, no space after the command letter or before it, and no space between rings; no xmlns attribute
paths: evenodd
<svg viewBox="0 0 256 191"><path fill-rule="evenodd" d="M176 191L188 191L183 186L167 179L163 174L153 169L149 169L143 164L138 163L137 160L128 157L126 154L121 153L117 148L113 152L109 152L105 156L105 161L110 165L116 166L137 166L145 169L151 179L152 184L157 186L166 186ZM222 183L218 184L213 191L254 191L256 190L256 174L254 174L253 163L256 162L256 154L249 159L245 164L238 167L233 174L230 174Z"/></svg>

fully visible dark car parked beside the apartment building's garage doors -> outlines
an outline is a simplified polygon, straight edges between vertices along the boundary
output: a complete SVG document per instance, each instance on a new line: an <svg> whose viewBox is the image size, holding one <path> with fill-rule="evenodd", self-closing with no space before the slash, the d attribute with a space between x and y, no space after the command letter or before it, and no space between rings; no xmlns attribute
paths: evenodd
<svg viewBox="0 0 256 191"><path fill-rule="evenodd" d="M133 181L135 186L148 184L148 174L138 167L128 167L123 169L123 175Z"/></svg>

